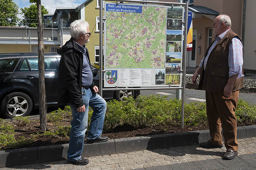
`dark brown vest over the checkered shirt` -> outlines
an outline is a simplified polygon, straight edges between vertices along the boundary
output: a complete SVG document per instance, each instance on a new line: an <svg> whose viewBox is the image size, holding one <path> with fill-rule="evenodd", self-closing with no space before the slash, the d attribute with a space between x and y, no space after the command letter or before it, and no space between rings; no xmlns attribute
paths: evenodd
<svg viewBox="0 0 256 170"><path fill-rule="evenodd" d="M229 79L229 45L234 36L238 36L231 29L227 31L226 35L213 48L206 64L205 70L202 69L200 74L200 81L198 89L203 89L211 92L223 93L224 87ZM239 36L238 36L239 37ZM239 37L240 41L241 38ZM242 41L241 41L242 42ZM208 47L205 56L207 56L211 45ZM203 66L204 68L204 62ZM242 70L242 74L244 74ZM244 77L236 79L232 91L240 90L244 87Z"/></svg>

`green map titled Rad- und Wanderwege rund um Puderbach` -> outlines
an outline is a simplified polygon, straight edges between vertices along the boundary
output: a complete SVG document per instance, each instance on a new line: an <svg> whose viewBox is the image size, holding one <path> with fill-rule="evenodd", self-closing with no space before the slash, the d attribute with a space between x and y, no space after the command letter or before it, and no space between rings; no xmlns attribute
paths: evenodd
<svg viewBox="0 0 256 170"><path fill-rule="evenodd" d="M165 7L106 3L105 68L165 68Z"/></svg>

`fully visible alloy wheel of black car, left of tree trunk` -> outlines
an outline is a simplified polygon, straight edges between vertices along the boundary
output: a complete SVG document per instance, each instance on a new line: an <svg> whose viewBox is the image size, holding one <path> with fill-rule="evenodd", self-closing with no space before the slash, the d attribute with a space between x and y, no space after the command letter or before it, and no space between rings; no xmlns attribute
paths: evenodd
<svg viewBox="0 0 256 170"><path fill-rule="evenodd" d="M5 96L1 103L4 117L27 116L33 108L31 98L22 92L13 92Z"/></svg>

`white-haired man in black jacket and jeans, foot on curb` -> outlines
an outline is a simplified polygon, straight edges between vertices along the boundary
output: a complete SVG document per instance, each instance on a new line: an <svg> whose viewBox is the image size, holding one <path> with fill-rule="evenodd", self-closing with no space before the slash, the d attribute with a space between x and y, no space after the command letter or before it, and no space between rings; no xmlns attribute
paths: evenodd
<svg viewBox="0 0 256 170"><path fill-rule="evenodd" d="M106 112L106 101L97 94L98 87L93 83L90 57L85 44L89 42L89 24L75 20L70 24L71 39L60 48L61 54L58 76L58 103L71 107L73 119L69 137L67 162L86 165L88 159L82 158L85 132L87 130L89 106L93 108L87 143L105 142L102 129Z"/></svg>

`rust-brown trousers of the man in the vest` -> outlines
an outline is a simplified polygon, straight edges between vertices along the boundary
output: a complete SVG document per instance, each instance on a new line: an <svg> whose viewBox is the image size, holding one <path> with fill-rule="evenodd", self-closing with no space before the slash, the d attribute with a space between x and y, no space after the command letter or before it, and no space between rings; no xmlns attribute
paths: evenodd
<svg viewBox="0 0 256 170"><path fill-rule="evenodd" d="M235 110L238 103L239 90L226 98L223 93L206 91L206 112L211 139L214 145L222 144L221 126L226 149L238 150L237 121Z"/></svg>

